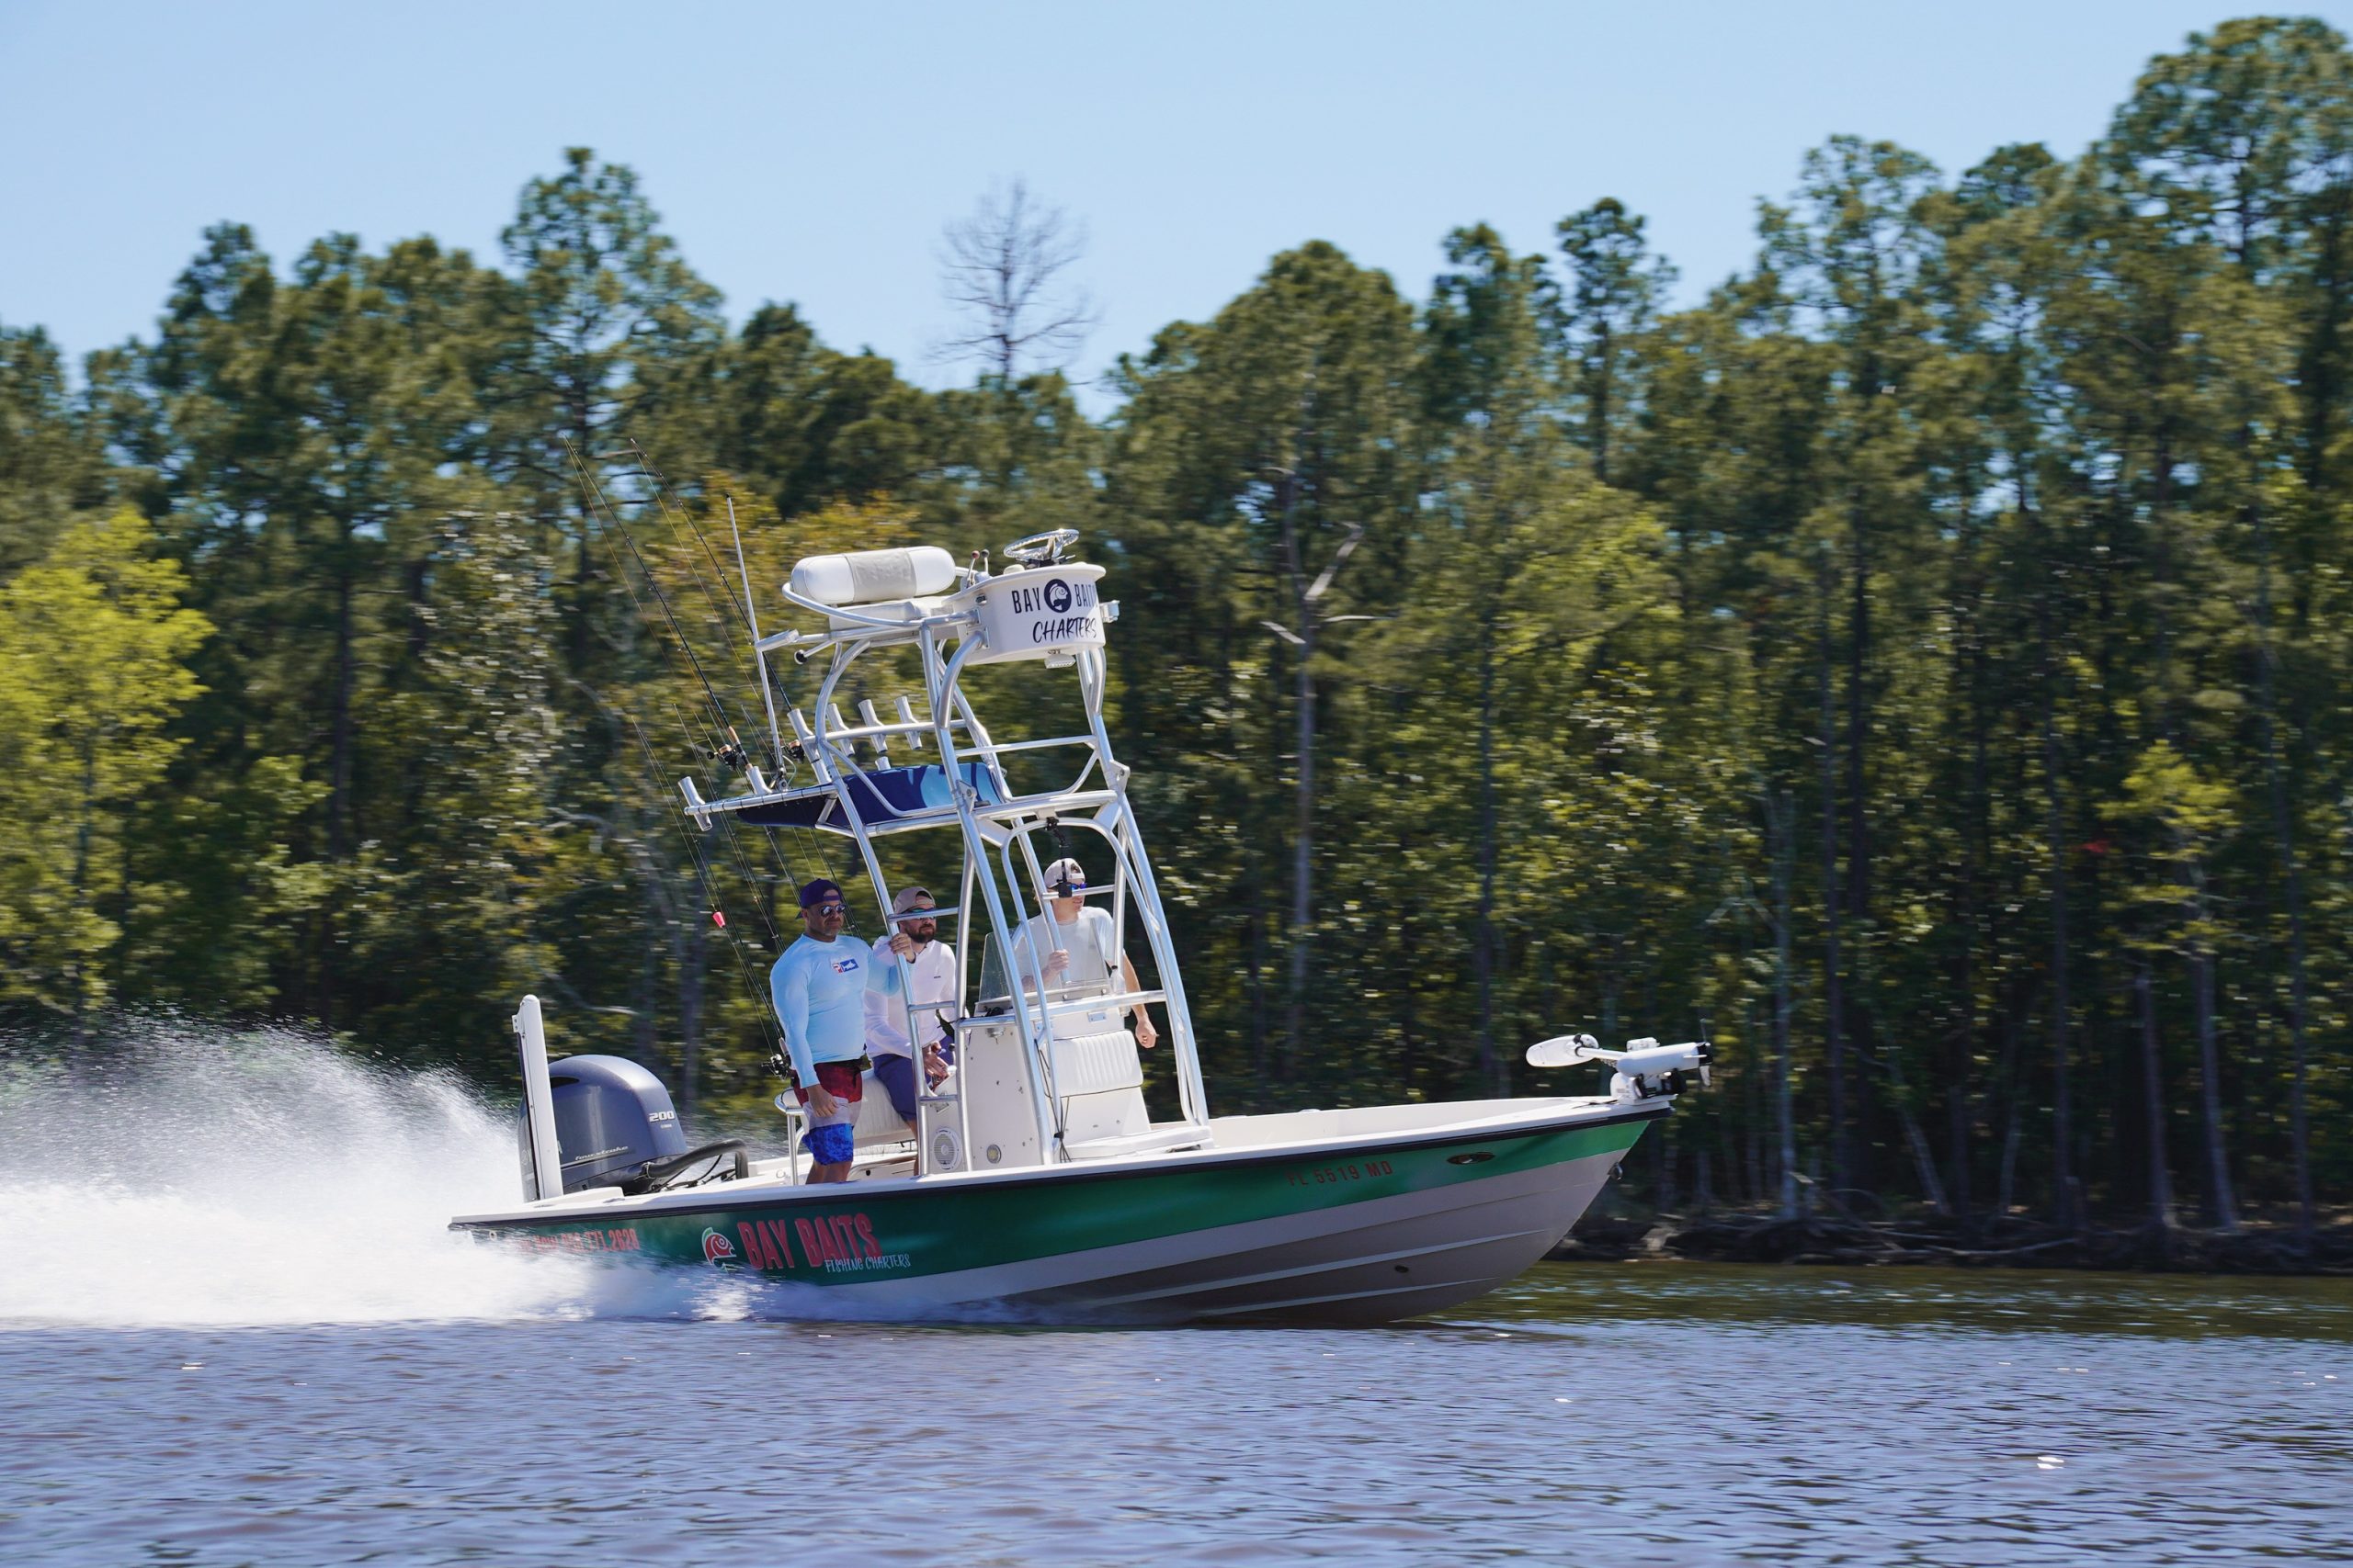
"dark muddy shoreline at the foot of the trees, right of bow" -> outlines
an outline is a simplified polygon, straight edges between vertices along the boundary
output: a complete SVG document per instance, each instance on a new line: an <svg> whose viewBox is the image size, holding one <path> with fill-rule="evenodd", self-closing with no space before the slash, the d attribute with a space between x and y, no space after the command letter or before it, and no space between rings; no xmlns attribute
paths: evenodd
<svg viewBox="0 0 2353 1568"><path fill-rule="evenodd" d="M1941 1215L1852 1220L1774 1211L1708 1211L1649 1218L1588 1213L1546 1253L1548 1262L1788 1262L1913 1265L1946 1269L2108 1269L2144 1274L2344 1274L2353 1276L2353 1218L2334 1213L2311 1246L2294 1225L2247 1222L2235 1232L2179 1225L2061 1229L2019 1215L1981 1215L1972 1229Z"/></svg>

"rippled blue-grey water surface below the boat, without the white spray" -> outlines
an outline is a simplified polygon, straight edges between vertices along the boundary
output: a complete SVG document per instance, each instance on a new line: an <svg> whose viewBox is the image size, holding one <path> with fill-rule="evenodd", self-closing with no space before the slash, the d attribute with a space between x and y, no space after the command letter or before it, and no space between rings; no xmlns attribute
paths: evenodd
<svg viewBox="0 0 2353 1568"><path fill-rule="evenodd" d="M0 1556L2337 1556L2348 1319L2313 1286L1546 1265L1388 1331L21 1328Z"/></svg>

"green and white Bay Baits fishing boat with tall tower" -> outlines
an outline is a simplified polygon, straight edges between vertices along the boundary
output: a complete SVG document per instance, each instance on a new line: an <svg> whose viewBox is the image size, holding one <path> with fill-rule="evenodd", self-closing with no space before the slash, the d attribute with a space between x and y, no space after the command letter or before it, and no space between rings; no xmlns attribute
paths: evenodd
<svg viewBox="0 0 2353 1568"><path fill-rule="evenodd" d="M1560 1034L1527 1048L1539 1067L1607 1067L1602 1093L1219 1114L1132 773L1104 722L1120 607L1101 597L1106 567L1075 545L1071 529L1019 538L1002 569L934 545L809 557L784 585L807 625L772 635L744 571L779 776L736 752L736 792L706 799L680 780L701 832L732 818L847 839L885 931L908 835L932 835L929 865L960 867L955 898L932 910L962 938L939 1025L953 1070L918 1086L915 1124L868 1079L849 1180L809 1180L798 1140L765 1159L741 1143L687 1147L652 1072L609 1056L551 1063L544 1009L525 997L522 1201L452 1229L809 1286L793 1298L807 1316L1151 1324L1440 1312L1569 1232L1642 1128L1706 1081L1708 1044L1607 1051ZM786 654L821 661L821 675L779 719L769 658ZM882 696L845 717L854 691ZM1021 733L1000 736L984 708L1016 715ZM1049 865L1080 858L1101 875L1047 884ZM1056 983L1066 964L1038 950L1047 898L1106 910L1151 983L1108 964L1108 983ZM1122 1023L1132 1009L1167 1023L1169 1067L1151 1093ZM798 1131L793 1095L776 1107Z"/></svg>

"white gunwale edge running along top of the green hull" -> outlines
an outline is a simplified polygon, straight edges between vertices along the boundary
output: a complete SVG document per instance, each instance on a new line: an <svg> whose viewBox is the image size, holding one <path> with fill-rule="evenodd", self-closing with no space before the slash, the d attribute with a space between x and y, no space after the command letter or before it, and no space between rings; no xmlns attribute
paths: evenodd
<svg viewBox="0 0 2353 1568"><path fill-rule="evenodd" d="M1254 1164L1294 1164L1299 1159L1313 1159L1327 1152L1341 1150L1433 1150L1454 1143L1487 1143L1492 1138L1527 1138L1537 1133L1569 1131L1577 1126L1619 1126L1626 1121L1661 1121L1673 1114L1678 1095L1654 1095L1647 1100L1635 1100L1631 1105L1581 1098L1579 1110L1572 1114L1551 1112L1532 1119L1534 1114L1520 1114L1508 1119L1487 1121L1457 1121L1431 1131L1405 1131L1405 1133L1351 1133L1344 1138L1315 1138L1306 1143L1273 1143L1249 1150L1172 1150L1155 1154L1136 1154L1122 1159L1080 1159L1049 1166L1014 1166L1009 1171L941 1171L936 1175L918 1178L885 1178L885 1180L859 1180L859 1182L786 1182L784 1178L767 1178L758 1182L718 1182L713 1187L687 1187L682 1192L647 1192L635 1197L605 1199L600 1204L576 1204L562 1208L525 1208L525 1211L494 1211L480 1215L456 1215L449 1220L449 1229L471 1232L508 1232L508 1229L541 1229L541 1227L565 1227L565 1225L600 1225L612 1215L631 1218L692 1218L699 1213L732 1213L748 1206L774 1208L795 1204L838 1204L845 1199L868 1201L868 1199L908 1199L929 1192L969 1192L974 1187L1012 1187L1021 1182L1071 1182L1080 1178L1092 1180L1141 1180L1148 1175L1165 1175L1169 1171L1224 1171L1242 1168ZM1555 1098L1565 1100L1565 1095ZM1362 1107L1332 1107L1332 1110L1388 1110L1379 1105ZM1600 1114L1595 1114L1600 1110ZM1275 1117L1301 1114L1301 1112L1268 1112ZM722 1192L736 1192L746 1197L720 1199Z"/></svg>

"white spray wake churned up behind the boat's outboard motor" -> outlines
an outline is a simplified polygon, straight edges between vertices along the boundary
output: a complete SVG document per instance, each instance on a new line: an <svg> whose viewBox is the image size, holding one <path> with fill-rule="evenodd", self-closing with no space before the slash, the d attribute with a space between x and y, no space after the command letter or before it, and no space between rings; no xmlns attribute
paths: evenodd
<svg viewBox="0 0 2353 1568"><path fill-rule="evenodd" d="M447 1072L289 1030L111 1032L80 1074L0 1041L0 1326L793 1316L758 1281L449 1234L518 1173L513 1124Z"/></svg>

